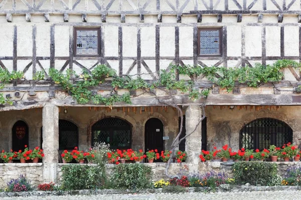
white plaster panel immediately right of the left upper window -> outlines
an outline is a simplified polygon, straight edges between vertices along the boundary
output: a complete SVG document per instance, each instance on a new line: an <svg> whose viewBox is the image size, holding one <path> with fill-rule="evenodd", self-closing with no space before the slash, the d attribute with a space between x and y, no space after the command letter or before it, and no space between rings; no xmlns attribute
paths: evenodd
<svg viewBox="0 0 301 200"><path fill-rule="evenodd" d="M104 55L118 56L118 27L104 26Z"/></svg>

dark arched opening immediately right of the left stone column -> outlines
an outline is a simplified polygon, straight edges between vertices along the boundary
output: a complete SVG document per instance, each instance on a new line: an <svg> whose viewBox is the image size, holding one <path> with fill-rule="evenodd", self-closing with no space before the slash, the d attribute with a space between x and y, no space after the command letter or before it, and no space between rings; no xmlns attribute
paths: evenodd
<svg viewBox="0 0 301 200"><path fill-rule="evenodd" d="M59 149L74 149L78 146L78 127L68 120L59 119Z"/></svg>

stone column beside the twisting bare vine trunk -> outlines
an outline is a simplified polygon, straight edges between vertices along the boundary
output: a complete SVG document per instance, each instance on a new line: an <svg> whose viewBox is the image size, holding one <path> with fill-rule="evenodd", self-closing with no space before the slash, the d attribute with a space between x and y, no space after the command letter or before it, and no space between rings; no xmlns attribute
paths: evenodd
<svg viewBox="0 0 301 200"><path fill-rule="evenodd" d="M202 109L199 105L190 105L185 112L186 117L186 134L194 130L197 123L202 117ZM199 154L202 148L202 122L197 129L188 137L186 137L186 161L189 164L189 171L197 171L199 164Z"/></svg>

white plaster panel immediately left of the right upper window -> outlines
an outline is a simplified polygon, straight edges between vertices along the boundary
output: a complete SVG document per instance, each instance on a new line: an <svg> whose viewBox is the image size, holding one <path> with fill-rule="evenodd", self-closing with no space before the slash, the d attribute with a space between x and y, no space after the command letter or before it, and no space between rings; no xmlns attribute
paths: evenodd
<svg viewBox="0 0 301 200"><path fill-rule="evenodd" d="M193 27L179 27L180 56L193 56Z"/></svg>

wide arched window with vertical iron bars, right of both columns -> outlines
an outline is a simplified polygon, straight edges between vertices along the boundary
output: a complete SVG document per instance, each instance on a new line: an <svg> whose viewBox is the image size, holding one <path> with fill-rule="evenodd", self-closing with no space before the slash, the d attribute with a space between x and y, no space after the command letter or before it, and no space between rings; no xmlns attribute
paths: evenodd
<svg viewBox="0 0 301 200"><path fill-rule="evenodd" d="M263 150L272 144L282 146L288 142L292 142L292 129L277 119L255 119L240 130L240 148Z"/></svg>

